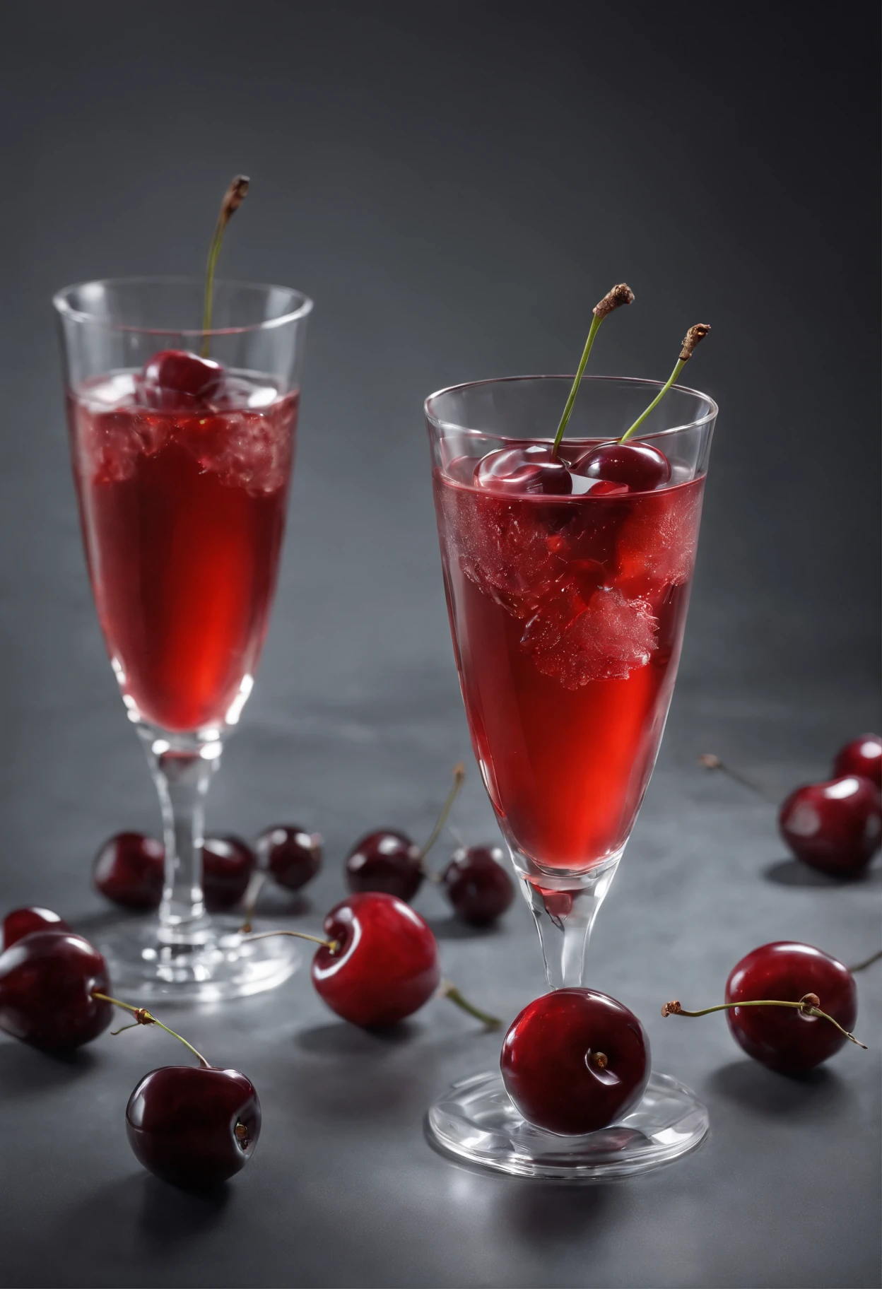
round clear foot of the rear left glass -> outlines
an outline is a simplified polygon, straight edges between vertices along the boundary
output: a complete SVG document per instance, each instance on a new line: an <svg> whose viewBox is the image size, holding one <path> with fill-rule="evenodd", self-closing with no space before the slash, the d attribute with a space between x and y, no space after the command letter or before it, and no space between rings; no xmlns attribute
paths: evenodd
<svg viewBox="0 0 882 1289"><path fill-rule="evenodd" d="M291 976L303 954L290 936L242 941L242 915L206 919L187 945L159 938L156 918L117 918L93 941L107 959L117 996L141 1004L217 1003L275 989ZM272 927L254 924L254 931Z"/></svg>

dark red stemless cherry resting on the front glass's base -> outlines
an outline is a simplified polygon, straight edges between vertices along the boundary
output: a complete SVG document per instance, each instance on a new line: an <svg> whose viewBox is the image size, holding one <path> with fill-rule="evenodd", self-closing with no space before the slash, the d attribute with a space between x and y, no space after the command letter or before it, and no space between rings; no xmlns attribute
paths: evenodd
<svg viewBox="0 0 882 1289"><path fill-rule="evenodd" d="M650 1076L633 1012L593 989L556 989L524 1008L500 1058L505 1092L527 1123L580 1136L631 1114Z"/></svg>

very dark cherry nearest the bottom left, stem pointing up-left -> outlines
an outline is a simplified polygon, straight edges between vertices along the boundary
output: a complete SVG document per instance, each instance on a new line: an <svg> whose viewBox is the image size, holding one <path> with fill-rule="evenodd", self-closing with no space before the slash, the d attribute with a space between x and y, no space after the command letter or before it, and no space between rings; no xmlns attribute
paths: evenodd
<svg viewBox="0 0 882 1289"><path fill-rule="evenodd" d="M129 1097L125 1130L151 1173L175 1186L208 1188L251 1158L260 1102L239 1070L165 1065L146 1074Z"/></svg>

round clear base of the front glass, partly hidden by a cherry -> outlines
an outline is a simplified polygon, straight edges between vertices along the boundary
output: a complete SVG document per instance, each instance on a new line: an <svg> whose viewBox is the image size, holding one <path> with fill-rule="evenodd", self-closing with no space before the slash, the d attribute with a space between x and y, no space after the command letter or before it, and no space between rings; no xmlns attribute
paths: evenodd
<svg viewBox="0 0 882 1289"><path fill-rule="evenodd" d="M620 1124L558 1137L526 1123L499 1072L462 1079L432 1106L428 1127L445 1151L514 1177L603 1181L671 1164L701 1145L708 1111L677 1079L650 1075L643 1100Z"/></svg>

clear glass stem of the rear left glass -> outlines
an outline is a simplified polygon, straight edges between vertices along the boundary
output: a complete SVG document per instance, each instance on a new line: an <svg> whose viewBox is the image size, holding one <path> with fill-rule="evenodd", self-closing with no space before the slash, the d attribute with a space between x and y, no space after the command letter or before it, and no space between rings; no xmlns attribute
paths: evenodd
<svg viewBox="0 0 882 1289"><path fill-rule="evenodd" d="M152 732L144 741L165 842L160 938L183 945L209 924L202 897L205 797L220 763L220 744L187 741L175 746Z"/></svg>

